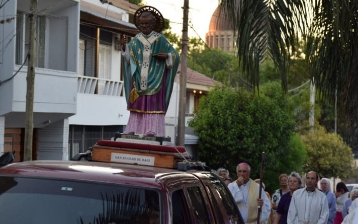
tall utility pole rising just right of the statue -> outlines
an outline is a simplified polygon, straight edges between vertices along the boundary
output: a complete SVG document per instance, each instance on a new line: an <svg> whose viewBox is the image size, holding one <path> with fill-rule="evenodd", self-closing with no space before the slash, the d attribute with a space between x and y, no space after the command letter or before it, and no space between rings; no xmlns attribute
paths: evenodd
<svg viewBox="0 0 358 224"><path fill-rule="evenodd" d="M178 113L178 131L177 145L185 144L185 107L187 98L187 55L188 55L188 20L189 20L189 0L184 0L183 16L183 38L182 55L180 69L180 93L179 93L179 113Z"/></svg>

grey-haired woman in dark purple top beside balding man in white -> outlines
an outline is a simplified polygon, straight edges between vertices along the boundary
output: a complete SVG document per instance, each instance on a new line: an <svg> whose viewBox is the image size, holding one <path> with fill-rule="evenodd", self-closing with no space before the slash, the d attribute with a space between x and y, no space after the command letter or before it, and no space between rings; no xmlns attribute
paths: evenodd
<svg viewBox="0 0 358 224"><path fill-rule="evenodd" d="M288 178L288 183L290 191L282 195L280 199L276 210L274 224L287 224L287 214L289 212L293 192L302 186L301 176L296 172L292 172Z"/></svg>

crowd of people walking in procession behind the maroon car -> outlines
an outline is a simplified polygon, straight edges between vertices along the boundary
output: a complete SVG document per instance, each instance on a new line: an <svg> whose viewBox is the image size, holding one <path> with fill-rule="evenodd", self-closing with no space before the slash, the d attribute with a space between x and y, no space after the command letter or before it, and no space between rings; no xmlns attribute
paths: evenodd
<svg viewBox="0 0 358 224"><path fill-rule="evenodd" d="M320 178L310 171L305 177L305 187L300 174L279 176L280 188L272 197L259 188L259 179L250 178L251 167L240 163L236 167L237 179L229 171L219 169L218 174L227 184L246 224L257 223L257 207L261 207L262 224L348 224L358 223L358 188L349 192L344 182L332 192L328 178ZM258 197L261 190L261 198Z"/></svg>

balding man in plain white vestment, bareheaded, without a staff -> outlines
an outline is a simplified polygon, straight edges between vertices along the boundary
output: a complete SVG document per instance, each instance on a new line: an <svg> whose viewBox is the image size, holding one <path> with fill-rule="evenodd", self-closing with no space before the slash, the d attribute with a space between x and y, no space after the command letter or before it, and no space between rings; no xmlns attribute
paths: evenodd
<svg viewBox="0 0 358 224"><path fill-rule="evenodd" d="M316 188L318 174L306 175L306 188L296 190L287 216L288 224L326 224L329 216L327 197Z"/></svg>

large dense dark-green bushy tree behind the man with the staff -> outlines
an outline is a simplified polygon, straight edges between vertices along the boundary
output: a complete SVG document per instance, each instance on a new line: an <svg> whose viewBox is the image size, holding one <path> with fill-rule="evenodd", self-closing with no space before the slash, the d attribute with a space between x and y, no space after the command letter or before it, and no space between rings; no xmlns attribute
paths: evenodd
<svg viewBox="0 0 358 224"><path fill-rule="evenodd" d="M238 163L247 162L255 178L259 176L261 152L265 152L267 188L277 185L278 172L301 169L304 159L292 158L305 155L294 135L292 106L280 94L280 84L274 86L263 88L260 97L244 89L216 87L200 100L189 125L200 137L202 161L213 169L225 167L231 172Z"/></svg>

